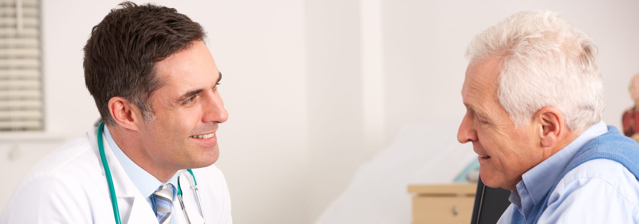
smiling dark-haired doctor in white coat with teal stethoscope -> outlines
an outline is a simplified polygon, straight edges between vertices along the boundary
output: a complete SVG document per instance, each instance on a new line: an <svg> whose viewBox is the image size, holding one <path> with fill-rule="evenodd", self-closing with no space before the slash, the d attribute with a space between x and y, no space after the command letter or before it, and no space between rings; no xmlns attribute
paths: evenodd
<svg viewBox="0 0 639 224"><path fill-rule="evenodd" d="M36 164L0 223L232 223L226 180L213 165L215 132L228 117L222 74L204 38L173 8L111 10L84 47L104 127Z"/></svg>

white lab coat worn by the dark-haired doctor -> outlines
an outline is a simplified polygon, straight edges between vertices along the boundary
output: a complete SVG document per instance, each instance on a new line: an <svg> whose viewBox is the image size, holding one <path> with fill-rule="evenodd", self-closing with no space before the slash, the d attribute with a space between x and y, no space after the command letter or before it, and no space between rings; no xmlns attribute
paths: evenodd
<svg viewBox="0 0 639 224"><path fill-rule="evenodd" d="M104 136L104 151L111 168L122 223L158 223L157 218ZM0 214L8 223L115 223L109 187L100 161L96 129L54 150L36 164L17 186ZM6 171L10 172L10 171ZM184 172L188 175L187 172ZM206 223L232 223L231 199L222 172L211 165L193 169ZM202 223L189 182L180 178L183 200L192 223ZM176 197L173 218L187 223Z"/></svg>

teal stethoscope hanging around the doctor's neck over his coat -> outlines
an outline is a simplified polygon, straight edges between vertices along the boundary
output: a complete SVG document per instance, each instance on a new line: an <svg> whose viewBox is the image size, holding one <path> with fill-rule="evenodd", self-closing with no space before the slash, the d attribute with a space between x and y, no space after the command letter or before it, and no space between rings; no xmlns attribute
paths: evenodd
<svg viewBox="0 0 639 224"><path fill-rule="evenodd" d="M107 163L107 156L104 154L104 144L102 143L102 129L104 129L104 122L100 121L98 124L98 150L100 151L100 159L102 159L102 166L104 166L104 174L107 176L107 184L109 185L109 194L111 194L111 205L113 205L113 216L116 219L116 224L121 224L119 218L119 209L118 209L118 199L116 198L116 190L113 188L113 178L111 177L111 170L109 170L109 163ZM196 193L197 207L199 208L200 215L204 220L204 212L202 211L202 204L200 204L199 199L199 191L197 190L197 181L196 176L193 175L193 170L187 169L190 173L191 177L193 177L193 181L189 179L189 183L191 184L191 189ZM188 179L188 178L187 178ZM189 214L187 214L187 210L184 209L184 201L182 200L182 188L180 187L180 177L178 177L178 200L180 200L180 206L182 207L182 211L184 212L184 216L187 218L187 222L191 223L189 219ZM206 224L206 220L204 220Z"/></svg>

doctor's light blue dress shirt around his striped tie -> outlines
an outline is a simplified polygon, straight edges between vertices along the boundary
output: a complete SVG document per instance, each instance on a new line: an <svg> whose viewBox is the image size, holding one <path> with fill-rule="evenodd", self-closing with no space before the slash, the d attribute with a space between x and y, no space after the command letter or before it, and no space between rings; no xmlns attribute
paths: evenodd
<svg viewBox="0 0 639 224"><path fill-rule="evenodd" d="M151 173L146 172L146 170L142 169L140 166L135 164L127 156L127 154L124 154L124 152L122 152L122 150L118 147L118 144L116 144L116 142L111 137L111 132L109 132L109 129L107 128L106 125L104 126L104 136L107 139L107 142L109 143L109 147L111 147L111 149L113 150L113 154L115 154L116 157L118 158L119 164L127 173L128 178L131 179L131 181L135 185L135 188L137 188L140 191L142 196L146 198L146 202L148 202L149 205L151 205L151 209L153 209L153 211L155 211L155 202L153 202L153 193L158 188L160 188L160 186L164 184L173 184L173 200L175 200L178 193L178 190L177 190L178 176L179 176L178 173L173 175L173 177L171 177L169 181L164 183L160 182L160 180L156 179L155 177L153 177L153 175L151 175ZM175 210L171 212L175 212ZM176 219L172 218L171 223L176 224Z"/></svg>

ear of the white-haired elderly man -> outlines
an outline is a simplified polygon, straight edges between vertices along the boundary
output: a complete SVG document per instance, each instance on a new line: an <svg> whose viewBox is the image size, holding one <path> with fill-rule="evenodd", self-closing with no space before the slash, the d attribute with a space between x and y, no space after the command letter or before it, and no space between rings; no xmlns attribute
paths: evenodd
<svg viewBox="0 0 639 224"><path fill-rule="evenodd" d="M534 115L534 124L539 128L541 147L553 147L568 132L564 115L556 108L541 108Z"/></svg>

